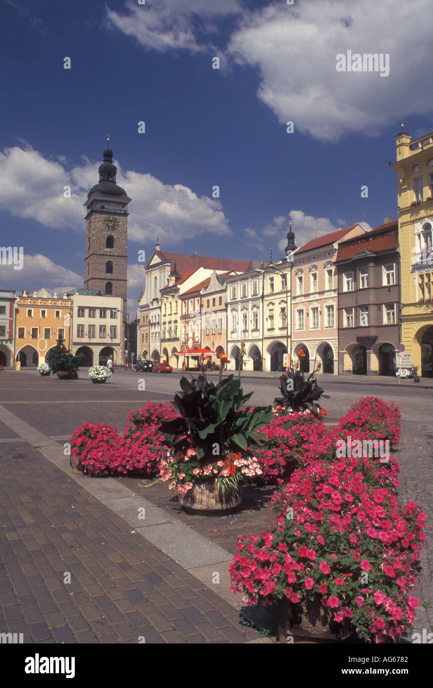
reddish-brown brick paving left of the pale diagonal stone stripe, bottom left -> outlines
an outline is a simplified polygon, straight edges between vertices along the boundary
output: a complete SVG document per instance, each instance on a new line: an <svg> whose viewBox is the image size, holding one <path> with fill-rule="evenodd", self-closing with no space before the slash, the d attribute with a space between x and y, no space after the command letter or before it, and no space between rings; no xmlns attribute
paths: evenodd
<svg viewBox="0 0 433 688"><path fill-rule="evenodd" d="M0 444L0 465L0 632L22 632L25 643L258 638L232 605L29 444Z"/></svg>

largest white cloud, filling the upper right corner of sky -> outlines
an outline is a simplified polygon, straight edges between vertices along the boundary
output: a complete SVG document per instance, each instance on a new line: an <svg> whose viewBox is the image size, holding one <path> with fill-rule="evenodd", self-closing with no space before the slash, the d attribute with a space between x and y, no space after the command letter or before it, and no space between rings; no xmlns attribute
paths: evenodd
<svg viewBox="0 0 433 688"><path fill-rule="evenodd" d="M235 61L257 66L257 96L295 132L335 142L375 136L399 117L432 109L430 0L281 1L244 12L231 36ZM414 39L416 36L416 39ZM390 55L390 74L337 72L339 53ZM414 78L416 74L416 78ZM404 98L402 98L404 94ZM286 134L286 136L292 136Z"/></svg>

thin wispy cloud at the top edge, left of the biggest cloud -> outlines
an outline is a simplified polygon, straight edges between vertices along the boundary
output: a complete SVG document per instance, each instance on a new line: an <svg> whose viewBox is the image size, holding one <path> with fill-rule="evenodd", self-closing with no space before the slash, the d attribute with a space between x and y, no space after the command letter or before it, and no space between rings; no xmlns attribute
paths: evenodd
<svg viewBox="0 0 433 688"><path fill-rule="evenodd" d="M125 5L127 14L107 8L109 21L143 47L158 52L209 50L209 42L201 39L203 34L215 32L215 18L241 11L237 0L147 0L145 6L128 0Z"/></svg>

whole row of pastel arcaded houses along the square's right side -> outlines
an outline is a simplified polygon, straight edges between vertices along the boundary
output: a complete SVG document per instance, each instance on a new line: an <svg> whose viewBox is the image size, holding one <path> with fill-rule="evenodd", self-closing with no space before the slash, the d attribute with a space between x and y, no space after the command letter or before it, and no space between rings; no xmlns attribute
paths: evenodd
<svg viewBox="0 0 433 688"><path fill-rule="evenodd" d="M335 375L394 375L403 344L432 376L433 134L412 142L402 127L396 151L399 217L370 232L355 224L297 248L290 231L276 262L167 253L157 242L138 354L180 368L196 365L195 351L215 361L224 352L229 369L268 371L288 352L305 372L317 362Z"/></svg>

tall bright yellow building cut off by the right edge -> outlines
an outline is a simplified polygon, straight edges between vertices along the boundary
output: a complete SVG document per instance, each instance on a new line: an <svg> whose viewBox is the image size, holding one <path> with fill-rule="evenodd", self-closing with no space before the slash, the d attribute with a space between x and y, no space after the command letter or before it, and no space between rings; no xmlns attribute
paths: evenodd
<svg viewBox="0 0 433 688"><path fill-rule="evenodd" d="M397 134L401 343L418 374L432 377L433 347L433 133L412 141Z"/></svg>

